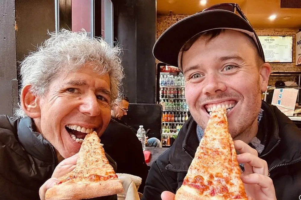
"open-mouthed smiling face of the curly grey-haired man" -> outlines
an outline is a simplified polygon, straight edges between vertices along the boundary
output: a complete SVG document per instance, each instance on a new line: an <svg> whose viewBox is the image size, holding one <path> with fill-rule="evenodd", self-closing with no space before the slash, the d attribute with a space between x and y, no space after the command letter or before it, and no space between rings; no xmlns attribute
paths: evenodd
<svg viewBox="0 0 301 200"><path fill-rule="evenodd" d="M110 121L110 78L91 65L61 73L39 99L37 129L64 158L76 154L93 129L101 136ZM76 129L76 130L74 130Z"/></svg>

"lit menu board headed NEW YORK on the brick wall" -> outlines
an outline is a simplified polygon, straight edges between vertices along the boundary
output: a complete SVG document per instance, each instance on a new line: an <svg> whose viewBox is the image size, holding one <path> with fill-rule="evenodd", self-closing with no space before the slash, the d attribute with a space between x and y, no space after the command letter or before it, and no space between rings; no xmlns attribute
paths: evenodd
<svg viewBox="0 0 301 200"><path fill-rule="evenodd" d="M266 62L293 62L293 36L258 36Z"/></svg>

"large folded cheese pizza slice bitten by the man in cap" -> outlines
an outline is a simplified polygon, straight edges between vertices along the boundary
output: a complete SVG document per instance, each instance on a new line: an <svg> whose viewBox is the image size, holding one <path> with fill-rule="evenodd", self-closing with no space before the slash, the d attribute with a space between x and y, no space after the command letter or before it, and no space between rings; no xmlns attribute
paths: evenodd
<svg viewBox="0 0 301 200"><path fill-rule="evenodd" d="M215 109L175 200L244 199L236 151L226 109Z"/></svg>

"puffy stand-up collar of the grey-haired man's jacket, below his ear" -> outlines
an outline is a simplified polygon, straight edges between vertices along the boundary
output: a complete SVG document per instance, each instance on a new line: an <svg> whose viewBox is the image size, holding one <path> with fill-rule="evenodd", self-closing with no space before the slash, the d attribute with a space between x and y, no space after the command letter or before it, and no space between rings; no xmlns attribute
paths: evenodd
<svg viewBox="0 0 301 200"><path fill-rule="evenodd" d="M29 117L22 118L18 124L18 138L23 148L33 157L47 163L57 163L54 147L42 134L34 131Z"/></svg>

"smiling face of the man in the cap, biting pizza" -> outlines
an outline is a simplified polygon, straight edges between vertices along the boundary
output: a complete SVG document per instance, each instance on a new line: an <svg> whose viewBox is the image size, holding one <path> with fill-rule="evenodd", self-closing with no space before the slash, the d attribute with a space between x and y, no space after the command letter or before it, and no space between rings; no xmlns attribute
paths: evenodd
<svg viewBox="0 0 301 200"><path fill-rule="evenodd" d="M252 130L257 133L261 91L266 90L270 66L258 66L256 56L247 36L231 30L212 40L201 36L183 53L185 98L203 129L210 111L225 106L233 138Z"/></svg>

